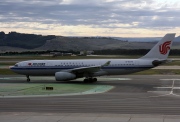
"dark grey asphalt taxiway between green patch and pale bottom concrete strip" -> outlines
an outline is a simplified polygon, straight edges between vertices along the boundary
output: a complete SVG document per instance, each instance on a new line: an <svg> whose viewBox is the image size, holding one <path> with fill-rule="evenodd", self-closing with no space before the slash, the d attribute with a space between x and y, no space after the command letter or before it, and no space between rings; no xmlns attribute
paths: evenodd
<svg viewBox="0 0 180 122"><path fill-rule="evenodd" d="M10 76L9 76L10 77ZM22 80L6 79L1 83L23 83ZM33 83L40 82L34 80ZM46 82L54 82L47 80ZM57 82L56 82L57 83ZM66 82L58 82L59 84ZM81 81L67 82L82 84ZM111 85L114 89L99 94L58 97L0 98L0 113L65 113L112 114L112 115L180 115L179 75L126 75L101 77L97 85ZM2 117L0 115L0 118ZM66 116L67 117L67 116ZM129 116L128 116L129 118ZM129 120L127 120L129 121ZM175 121L175 120L173 120Z"/></svg>

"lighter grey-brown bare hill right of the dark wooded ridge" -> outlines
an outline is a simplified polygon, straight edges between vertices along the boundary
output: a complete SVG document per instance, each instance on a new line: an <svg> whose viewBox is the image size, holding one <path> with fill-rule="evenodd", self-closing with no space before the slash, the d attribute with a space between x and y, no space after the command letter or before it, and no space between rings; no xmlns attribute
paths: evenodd
<svg viewBox="0 0 180 122"><path fill-rule="evenodd" d="M69 38L57 37L48 40L37 50L104 50L104 49L149 49L154 43L127 42L112 38Z"/></svg>

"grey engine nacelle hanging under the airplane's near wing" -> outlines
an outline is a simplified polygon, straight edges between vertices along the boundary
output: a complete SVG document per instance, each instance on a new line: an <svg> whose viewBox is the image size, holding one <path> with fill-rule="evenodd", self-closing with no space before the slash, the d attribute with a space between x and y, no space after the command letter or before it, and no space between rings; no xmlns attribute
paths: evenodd
<svg viewBox="0 0 180 122"><path fill-rule="evenodd" d="M69 72L56 72L56 81L66 81L76 79L76 75Z"/></svg>

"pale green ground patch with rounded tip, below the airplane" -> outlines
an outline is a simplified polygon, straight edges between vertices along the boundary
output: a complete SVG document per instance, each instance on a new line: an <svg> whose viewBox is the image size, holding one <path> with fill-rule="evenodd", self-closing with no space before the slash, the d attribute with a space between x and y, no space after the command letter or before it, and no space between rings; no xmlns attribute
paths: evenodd
<svg viewBox="0 0 180 122"><path fill-rule="evenodd" d="M10 89L11 86L11 89ZM53 87L53 90L46 90L45 87ZM96 85L89 84L1 84L1 96L16 95L50 95L50 94L71 94L82 93L96 88Z"/></svg>

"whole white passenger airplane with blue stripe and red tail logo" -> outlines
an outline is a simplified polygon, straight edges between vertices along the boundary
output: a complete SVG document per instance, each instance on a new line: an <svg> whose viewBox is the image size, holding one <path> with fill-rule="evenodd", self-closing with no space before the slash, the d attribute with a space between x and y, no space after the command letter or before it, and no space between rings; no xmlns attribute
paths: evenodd
<svg viewBox="0 0 180 122"><path fill-rule="evenodd" d="M146 55L138 59L83 59L83 60L28 60L16 63L10 69L30 76L55 76L56 81L85 78L96 82L98 76L125 75L166 63L175 33L166 34Z"/></svg>

